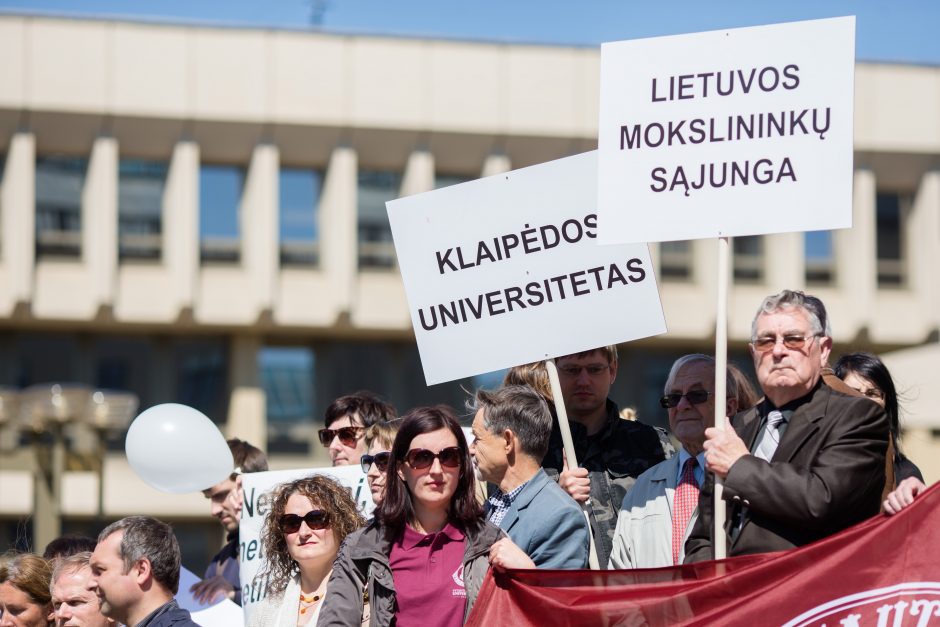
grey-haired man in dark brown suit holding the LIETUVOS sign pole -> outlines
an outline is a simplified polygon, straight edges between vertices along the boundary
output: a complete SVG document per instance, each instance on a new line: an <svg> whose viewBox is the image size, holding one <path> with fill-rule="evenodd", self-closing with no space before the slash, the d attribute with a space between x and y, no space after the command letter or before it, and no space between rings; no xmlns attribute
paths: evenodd
<svg viewBox="0 0 940 627"><path fill-rule="evenodd" d="M888 419L823 383L831 348L818 298L784 290L761 303L750 350L764 399L705 432L706 469L725 486L728 555L802 546L879 512ZM713 556L712 486L702 489L687 562Z"/></svg>

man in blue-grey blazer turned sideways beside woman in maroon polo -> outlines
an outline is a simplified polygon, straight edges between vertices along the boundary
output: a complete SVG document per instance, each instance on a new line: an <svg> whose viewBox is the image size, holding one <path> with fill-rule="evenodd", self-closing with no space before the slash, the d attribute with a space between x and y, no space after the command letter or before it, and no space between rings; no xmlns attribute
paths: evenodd
<svg viewBox="0 0 940 627"><path fill-rule="evenodd" d="M497 488L487 500L487 518L512 540L494 545L491 563L586 568L587 520L541 467L552 430L545 399L532 388L507 386L497 392L478 391L474 408L470 452L480 475Z"/></svg>

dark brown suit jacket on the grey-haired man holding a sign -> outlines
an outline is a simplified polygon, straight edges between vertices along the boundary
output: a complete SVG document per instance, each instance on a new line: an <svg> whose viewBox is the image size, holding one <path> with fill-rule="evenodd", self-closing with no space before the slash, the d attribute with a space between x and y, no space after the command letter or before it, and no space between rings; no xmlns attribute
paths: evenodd
<svg viewBox="0 0 940 627"><path fill-rule="evenodd" d="M746 455L728 472L728 555L802 546L880 510L888 443L884 410L821 381L801 401L770 463ZM765 399L732 419L750 450L770 409ZM686 562L713 559L713 489L709 473L700 515L686 542ZM735 525L738 517L743 523Z"/></svg>

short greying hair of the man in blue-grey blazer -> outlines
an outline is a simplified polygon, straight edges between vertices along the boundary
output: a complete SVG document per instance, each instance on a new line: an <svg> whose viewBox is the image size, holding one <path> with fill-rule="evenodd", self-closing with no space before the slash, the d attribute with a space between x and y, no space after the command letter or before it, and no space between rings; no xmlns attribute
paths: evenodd
<svg viewBox="0 0 940 627"><path fill-rule="evenodd" d="M552 413L541 394L527 385L478 390L471 409L483 410L483 425L490 433L509 429L519 438L521 452L542 462L552 434Z"/></svg>

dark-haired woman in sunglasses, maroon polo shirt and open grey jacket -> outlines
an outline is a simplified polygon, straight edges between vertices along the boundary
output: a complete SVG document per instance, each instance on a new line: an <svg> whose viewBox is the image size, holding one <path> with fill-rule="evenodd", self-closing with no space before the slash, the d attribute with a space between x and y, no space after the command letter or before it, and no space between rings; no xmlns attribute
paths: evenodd
<svg viewBox="0 0 940 627"><path fill-rule="evenodd" d="M490 547L503 534L483 520L470 451L449 407L402 420L385 498L349 536L330 578L321 625L461 625L476 600Z"/></svg>

